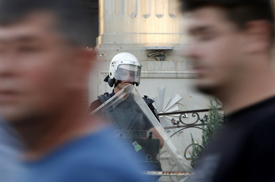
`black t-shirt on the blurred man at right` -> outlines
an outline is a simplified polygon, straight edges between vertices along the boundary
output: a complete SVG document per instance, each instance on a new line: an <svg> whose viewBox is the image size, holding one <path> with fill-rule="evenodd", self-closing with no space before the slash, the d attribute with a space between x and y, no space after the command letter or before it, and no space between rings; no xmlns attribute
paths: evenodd
<svg viewBox="0 0 275 182"><path fill-rule="evenodd" d="M275 181L275 97L225 117L193 181Z"/></svg>

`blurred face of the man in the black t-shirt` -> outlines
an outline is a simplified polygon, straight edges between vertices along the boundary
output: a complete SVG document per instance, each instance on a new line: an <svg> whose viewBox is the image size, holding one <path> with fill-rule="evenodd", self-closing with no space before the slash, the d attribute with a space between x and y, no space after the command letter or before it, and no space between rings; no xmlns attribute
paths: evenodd
<svg viewBox="0 0 275 182"><path fill-rule="evenodd" d="M213 94L234 82L240 68L243 35L229 21L223 9L203 7L191 13L189 33L192 43L188 56L193 61L199 90Z"/></svg>

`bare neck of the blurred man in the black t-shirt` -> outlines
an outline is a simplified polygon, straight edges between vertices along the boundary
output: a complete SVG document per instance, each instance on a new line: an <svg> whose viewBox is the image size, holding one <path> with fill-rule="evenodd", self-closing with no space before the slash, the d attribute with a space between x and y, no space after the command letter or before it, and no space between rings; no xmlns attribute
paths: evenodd
<svg viewBox="0 0 275 182"><path fill-rule="evenodd" d="M219 90L215 95L223 102L225 113L231 114L247 106L275 96L275 74L268 64L250 70Z"/></svg>

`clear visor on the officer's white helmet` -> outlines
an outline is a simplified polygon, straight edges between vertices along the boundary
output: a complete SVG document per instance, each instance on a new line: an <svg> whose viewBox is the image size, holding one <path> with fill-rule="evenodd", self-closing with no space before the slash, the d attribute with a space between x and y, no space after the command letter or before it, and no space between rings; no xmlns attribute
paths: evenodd
<svg viewBox="0 0 275 182"><path fill-rule="evenodd" d="M140 83L140 66L132 64L120 64L117 66L114 78L117 80L127 80Z"/></svg>

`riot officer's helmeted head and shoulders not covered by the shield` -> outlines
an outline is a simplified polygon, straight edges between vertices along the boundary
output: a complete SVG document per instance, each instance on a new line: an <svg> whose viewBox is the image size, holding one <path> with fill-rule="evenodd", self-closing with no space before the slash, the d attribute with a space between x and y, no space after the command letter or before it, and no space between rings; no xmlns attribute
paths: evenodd
<svg viewBox="0 0 275 182"><path fill-rule="evenodd" d="M114 86L113 92L110 94L106 92L98 96L98 99L91 103L89 110L92 112L128 84L138 86L140 84L141 67L142 65L133 54L122 52L115 55L109 67L109 74L104 79L110 87ZM146 95L144 95L143 99L158 121L160 121L158 112L152 104L154 100L148 98Z"/></svg>

